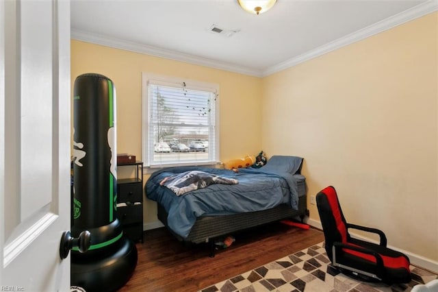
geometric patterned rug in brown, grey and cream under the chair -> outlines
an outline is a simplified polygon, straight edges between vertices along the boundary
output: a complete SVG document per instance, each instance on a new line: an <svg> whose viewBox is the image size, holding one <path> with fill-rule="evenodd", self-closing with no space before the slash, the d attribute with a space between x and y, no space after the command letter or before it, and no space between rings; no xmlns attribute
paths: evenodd
<svg viewBox="0 0 438 292"><path fill-rule="evenodd" d="M335 269L326 256L324 243L313 245L252 271L229 278L201 292L261 291L411 291L416 284L426 284L438 275L411 265L412 281L388 286L382 282L361 282Z"/></svg>

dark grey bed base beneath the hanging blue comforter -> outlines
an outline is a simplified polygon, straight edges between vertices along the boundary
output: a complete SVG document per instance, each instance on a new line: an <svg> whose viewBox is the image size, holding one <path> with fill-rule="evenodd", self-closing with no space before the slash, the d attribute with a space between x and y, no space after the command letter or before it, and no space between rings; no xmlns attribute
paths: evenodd
<svg viewBox="0 0 438 292"><path fill-rule="evenodd" d="M298 198L298 210L292 209L287 204L281 204L268 210L256 212L244 212L232 215L221 216L203 216L196 219L190 234L183 239L168 227L167 212L157 203L157 216L164 226L170 230L179 241L190 243L210 243L210 256L214 257L214 239L220 236L226 236L232 232L261 226L266 223L279 221L282 219L300 217L301 221L305 216L309 216L307 209L307 195Z"/></svg>

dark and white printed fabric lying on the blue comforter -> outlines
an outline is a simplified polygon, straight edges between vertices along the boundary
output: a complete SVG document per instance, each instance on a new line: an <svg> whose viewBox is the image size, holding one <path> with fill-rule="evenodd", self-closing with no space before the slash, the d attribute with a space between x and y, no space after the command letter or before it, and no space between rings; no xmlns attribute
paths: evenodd
<svg viewBox="0 0 438 292"><path fill-rule="evenodd" d="M198 188L205 188L210 184L237 184L233 178L224 178L205 171L185 171L183 173L166 176L160 186L170 188L175 194L183 195Z"/></svg>

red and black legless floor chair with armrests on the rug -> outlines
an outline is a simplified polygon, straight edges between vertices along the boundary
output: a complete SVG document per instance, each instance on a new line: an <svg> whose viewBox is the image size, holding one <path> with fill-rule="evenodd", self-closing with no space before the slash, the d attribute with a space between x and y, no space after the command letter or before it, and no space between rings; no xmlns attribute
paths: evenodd
<svg viewBox="0 0 438 292"><path fill-rule="evenodd" d="M411 281L409 258L389 249L381 230L347 223L333 186L316 195L316 204L324 231L325 250L334 267L347 276L365 281L380 280L387 284ZM350 229L378 234L380 243L353 239L348 233Z"/></svg>

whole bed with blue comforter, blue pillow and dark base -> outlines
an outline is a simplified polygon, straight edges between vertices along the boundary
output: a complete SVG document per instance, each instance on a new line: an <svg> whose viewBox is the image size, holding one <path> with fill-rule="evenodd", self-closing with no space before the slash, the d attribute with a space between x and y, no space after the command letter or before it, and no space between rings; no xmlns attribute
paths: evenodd
<svg viewBox="0 0 438 292"><path fill-rule="evenodd" d="M259 169L239 169L237 173L170 167L155 171L144 188L146 197L157 202L158 219L179 241L212 243L239 230L287 218L299 217L302 221L308 216L305 177L300 174L302 160L272 156ZM207 182L198 182L202 175L192 173L207 175ZM188 182L179 184L186 178ZM181 191L175 188L175 182L190 188Z"/></svg>

